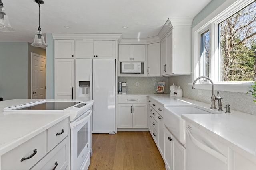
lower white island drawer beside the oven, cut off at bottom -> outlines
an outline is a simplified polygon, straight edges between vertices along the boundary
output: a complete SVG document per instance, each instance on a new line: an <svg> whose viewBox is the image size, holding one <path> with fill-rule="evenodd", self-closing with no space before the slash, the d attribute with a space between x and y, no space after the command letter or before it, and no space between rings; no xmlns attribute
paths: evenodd
<svg viewBox="0 0 256 170"><path fill-rule="evenodd" d="M64 170L68 166L68 137L50 151L31 170Z"/></svg>

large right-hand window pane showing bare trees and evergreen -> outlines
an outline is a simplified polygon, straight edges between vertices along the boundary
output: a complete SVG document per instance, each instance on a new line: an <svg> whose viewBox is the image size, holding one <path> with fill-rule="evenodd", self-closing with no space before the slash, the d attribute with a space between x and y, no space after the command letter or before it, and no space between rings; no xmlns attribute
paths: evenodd
<svg viewBox="0 0 256 170"><path fill-rule="evenodd" d="M220 81L256 80L256 2L218 24Z"/></svg>

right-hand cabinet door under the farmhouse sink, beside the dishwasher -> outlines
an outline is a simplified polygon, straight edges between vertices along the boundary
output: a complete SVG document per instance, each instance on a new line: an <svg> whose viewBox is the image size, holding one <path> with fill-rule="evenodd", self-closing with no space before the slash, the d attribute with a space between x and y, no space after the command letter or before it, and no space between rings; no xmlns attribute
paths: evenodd
<svg viewBox="0 0 256 170"><path fill-rule="evenodd" d="M173 143L173 167L174 170L185 170L186 149L176 138L172 138Z"/></svg>

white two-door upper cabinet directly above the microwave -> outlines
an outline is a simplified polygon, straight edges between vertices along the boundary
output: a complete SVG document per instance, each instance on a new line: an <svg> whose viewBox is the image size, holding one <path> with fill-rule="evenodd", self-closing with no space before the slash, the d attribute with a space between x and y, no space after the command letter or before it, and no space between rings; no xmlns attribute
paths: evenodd
<svg viewBox="0 0 256 170"><path fill-rule="evenodd" d="M146 45L119 45L119 61L145 61Z"/></svg>

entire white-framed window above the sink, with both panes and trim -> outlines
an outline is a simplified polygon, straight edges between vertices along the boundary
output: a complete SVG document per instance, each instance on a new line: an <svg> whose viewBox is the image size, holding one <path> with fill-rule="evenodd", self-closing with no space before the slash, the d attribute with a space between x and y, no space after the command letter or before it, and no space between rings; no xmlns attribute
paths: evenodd
<svg viewBox="0 0 256 170"><path fill-rule="evenodd" d="M256 1L226 1L192 33L194 80L207 76L218 90L247 92L256 80ZM211 88L199 83L198 88Z"/></svg>

